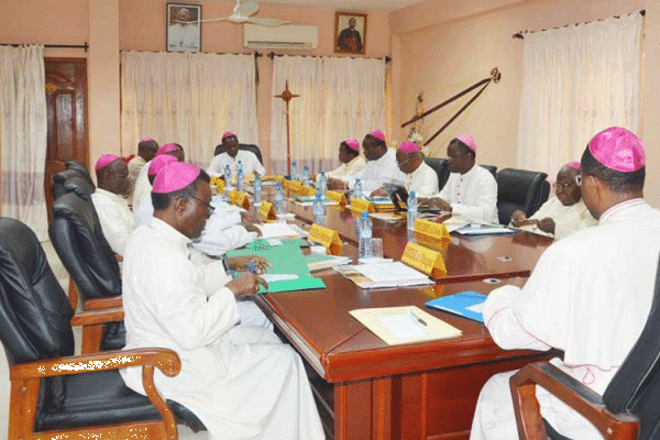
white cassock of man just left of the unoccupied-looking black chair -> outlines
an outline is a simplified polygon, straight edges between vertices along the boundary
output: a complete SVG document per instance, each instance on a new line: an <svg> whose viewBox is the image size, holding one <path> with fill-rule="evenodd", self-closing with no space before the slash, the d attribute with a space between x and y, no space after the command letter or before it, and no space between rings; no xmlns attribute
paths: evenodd
<svg viewBox="0 0 660 440"><path fill-rule="evenodd" d="M490 170L479 165L465 174L451 173L437 197L449 201L454 215L473 221L499 223L497 182Z"/></svg>

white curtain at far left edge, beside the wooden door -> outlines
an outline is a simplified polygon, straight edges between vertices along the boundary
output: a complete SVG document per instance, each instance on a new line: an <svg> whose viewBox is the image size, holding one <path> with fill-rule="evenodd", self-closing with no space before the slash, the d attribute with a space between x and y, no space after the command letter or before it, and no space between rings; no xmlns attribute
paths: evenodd
<svg viewBox="0 0 660 440"><path fill-rule="evenodd" d="M48 240L45 81L43 45L0 46L0 212L41 241Z"/></svg>

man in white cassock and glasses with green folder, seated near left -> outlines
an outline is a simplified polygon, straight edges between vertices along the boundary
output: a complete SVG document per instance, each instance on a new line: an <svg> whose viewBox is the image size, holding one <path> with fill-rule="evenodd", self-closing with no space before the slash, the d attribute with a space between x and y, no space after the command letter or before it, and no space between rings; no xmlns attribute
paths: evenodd
<svg viewBox="0 0 660 440"><path fill-rule="evenodd" d="M127 246L123 308L127 346L168 348L182 360L175 377L156 373L165 397L191 410L213 440L323 439L307 375L296 352L260 327L237 326L237 297L265 282L253 274L231 279L258 257L195 266L188 244L212 207L208 175L191 164L164 167L153 185L154 219ZM141 371L128 369L129 387L144 394Z"/></svg>

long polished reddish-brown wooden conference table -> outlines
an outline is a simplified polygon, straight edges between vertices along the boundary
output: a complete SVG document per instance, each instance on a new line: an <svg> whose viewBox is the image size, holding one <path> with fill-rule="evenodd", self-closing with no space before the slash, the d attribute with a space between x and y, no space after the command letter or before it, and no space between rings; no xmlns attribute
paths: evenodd
<svg viewBox="0 0 660 440"><path fill-rule="evenodd" d="M311 207L289 201L296 220L311 223ZM355 256L350 210L329 209L344 254ZM374 220L384 256L399 258L405 220ZM447 277L425 287L361 289L341 274L315 273L327 288L266 294L256 304L302 356L328 438L468 439L476 399L493 374L550 359L556 352L502 350L486 328L425 308L430 299L464 290L487 294L506 284L522 286L551 239L518 232L505 237L452 237L443 251ZM360 308L417 306L460 329L460 337L388 345L355 320Z"/></svg>

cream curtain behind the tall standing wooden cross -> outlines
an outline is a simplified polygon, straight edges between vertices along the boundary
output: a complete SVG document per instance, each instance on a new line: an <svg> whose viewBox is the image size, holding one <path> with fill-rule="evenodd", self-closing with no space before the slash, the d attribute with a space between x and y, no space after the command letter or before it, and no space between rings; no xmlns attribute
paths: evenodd
<svg viewBox="0 0 660 440"><path fill-rule="evenodd" d="M289 102L292 161L312 172L339 165L339 144L362 138L373 129L385 131L385 61L349 57L275 57L273 95L285 81ZM271 166L286 172L286 107L272 98Z"/></svg>

